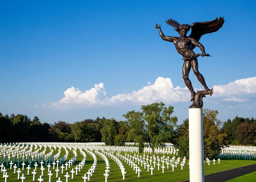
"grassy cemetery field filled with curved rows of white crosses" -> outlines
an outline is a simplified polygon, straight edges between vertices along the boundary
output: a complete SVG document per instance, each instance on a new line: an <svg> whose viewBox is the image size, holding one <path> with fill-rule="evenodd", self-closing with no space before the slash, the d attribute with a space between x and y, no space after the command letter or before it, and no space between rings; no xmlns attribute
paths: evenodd
<svg viewBox="0 0 256 182"><path fill-rule="evenodd" d="M103 143L0 145L0 181L188 180L189 161L177 154L172 145L156 149L154 156L147 147L144 154L139 154L138 147L105 146ZM242 157L222 157L220 163L217 159L215 162L205 161L204 174L255 163L255 158L245 160ZM252 178L251 175L245 176L248 179Z"/></svg>

